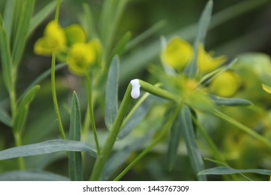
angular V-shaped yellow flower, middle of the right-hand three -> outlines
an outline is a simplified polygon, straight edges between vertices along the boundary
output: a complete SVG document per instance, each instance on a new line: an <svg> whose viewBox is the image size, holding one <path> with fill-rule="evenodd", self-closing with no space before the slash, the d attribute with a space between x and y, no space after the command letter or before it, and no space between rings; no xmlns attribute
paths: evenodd
<svg viewBox="0 0 271 195"><path fill-rule="evenodd" d="M213 58L211 54L208 54L204 50L204 46L202 44L198 46L197 65L199 68L199 72L202 72L203 74L211 72L215 70L215 68L222 65L222 63L224 63L225 61L225 56Z"/></svg>

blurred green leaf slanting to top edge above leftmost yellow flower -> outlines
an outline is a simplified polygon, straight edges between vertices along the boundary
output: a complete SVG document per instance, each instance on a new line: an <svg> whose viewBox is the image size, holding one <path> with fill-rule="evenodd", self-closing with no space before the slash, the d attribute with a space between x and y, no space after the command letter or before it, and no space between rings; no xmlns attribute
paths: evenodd
<svg viewBox="0 0 271 195"><path fill-rule="evenodd" d="M28 28L27 35L29 36L33 31L54 11L56 8L56 1L51 1L47 6L44 6L38 13L36 13L32 18Z"/></svg>

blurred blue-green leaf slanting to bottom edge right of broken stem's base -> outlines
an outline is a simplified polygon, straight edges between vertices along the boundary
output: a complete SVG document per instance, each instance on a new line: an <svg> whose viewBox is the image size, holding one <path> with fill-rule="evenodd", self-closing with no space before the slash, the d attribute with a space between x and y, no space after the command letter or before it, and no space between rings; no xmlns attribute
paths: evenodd
<svg viewBox="0 0 271 195"><path fill-rule="evenodd" d="M126 146L110 157L106 163L106 166L104 166L104 171L101 173L101 180L109 180L113 173L115 173L115 171L117 171L117 169L119 169L120 166L126 162L126 159L131 155L131 153L140 149L147 141L149 141L149 139L151 139L151 135L153 133L154 131L148 133L140 139L136 139L129 146Z"/></svg>

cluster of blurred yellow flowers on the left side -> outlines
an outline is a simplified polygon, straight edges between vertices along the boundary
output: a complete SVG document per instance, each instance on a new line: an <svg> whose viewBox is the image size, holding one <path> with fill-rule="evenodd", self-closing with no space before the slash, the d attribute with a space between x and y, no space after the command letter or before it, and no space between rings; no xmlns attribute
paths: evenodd
<svg viewBox="0 0 271 195"><path fill-rule="evenodd" d="M72 73L82 76L99 61L101 44L99 40L87 42L85 31L79 24L62 29L57 22L51 21L44 36L35 42L34 52L42 56L55 53L58 61L67 62Z"/></svg>

